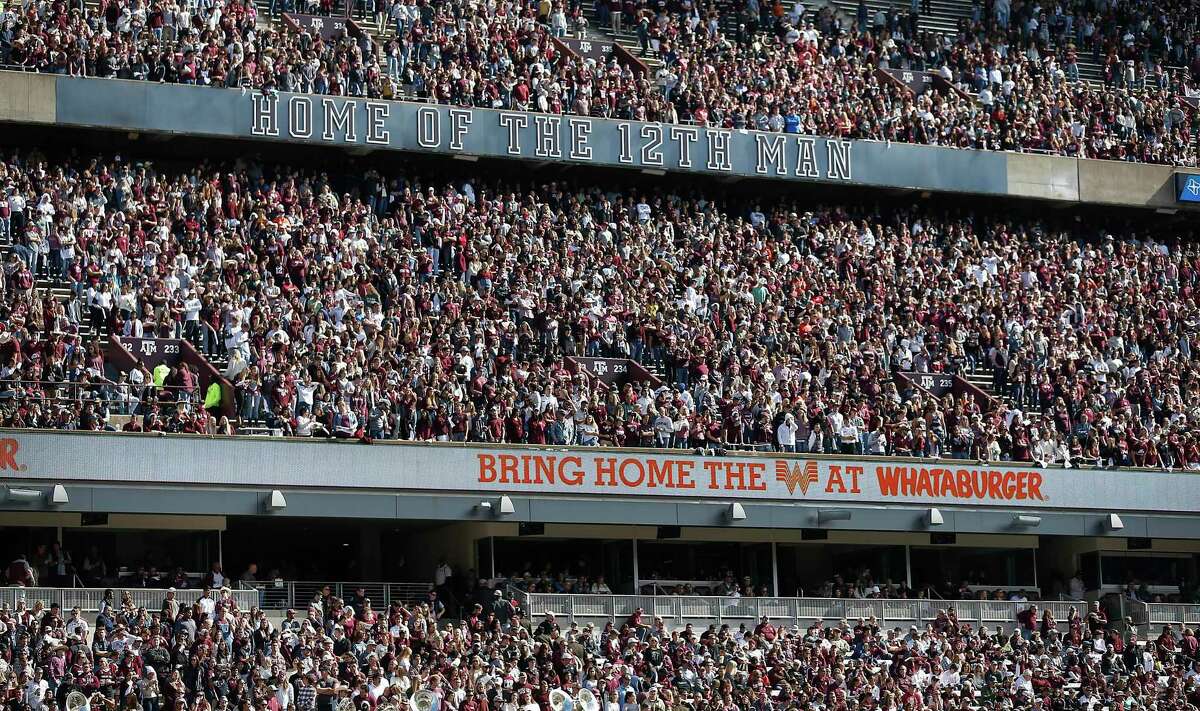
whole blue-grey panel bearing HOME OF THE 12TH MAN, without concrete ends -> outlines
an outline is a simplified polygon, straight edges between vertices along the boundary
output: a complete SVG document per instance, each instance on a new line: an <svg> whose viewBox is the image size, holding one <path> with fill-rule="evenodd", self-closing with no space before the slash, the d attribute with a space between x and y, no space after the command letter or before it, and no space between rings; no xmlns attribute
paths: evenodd
<svg viewBox="0 0 1200 711"><path fill-rule="evenodd" d="M722 177L1008 192L1002 153L367 97L55 78L55 123Z"/></svg>

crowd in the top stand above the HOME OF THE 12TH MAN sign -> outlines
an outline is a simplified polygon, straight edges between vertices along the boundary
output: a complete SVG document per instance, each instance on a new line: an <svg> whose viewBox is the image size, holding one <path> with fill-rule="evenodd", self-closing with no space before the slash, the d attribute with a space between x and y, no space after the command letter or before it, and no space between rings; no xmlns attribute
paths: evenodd
<svg viewBox="0 0 1200 711"><path fill-rule="evenodd" d="M552 36L577 22L577 2L358 4L395 30L379 41L367 34L324 41L284 23L259 26L254 6L236 0L113 0L100 11L26 2L10 5L2 16L0 64L70 76L410 96L1195 165L1200 54L1186 30L1195 22L1186 2L1156 4L1178 16L1166 18L1127 2L1091 12L1082 5L1092 2L1052 10L1039 4L1004 10L1007 4L989 2L986 13L977 11L977 22L964 19L954 37L922 30L916 0L904 14L871 16L860 6L856 20L829 8L806 12L798 4L785 11L780 2L751 0L733 34L722 31L718 11L702 12L698 4L625 2L619 11L601 4L604 17L636 23L643 53L661 59L652 72L560 50ZM1164 34L1151 17L1177 22ZM1069 80L1078 77L1067 42L1073 34L1109 58L1114 68L1105 85ZM1169 68L1168 61L1182 66ZM881 78L880 67L928 70L947 84L914 96L900 82Z"/></svg>

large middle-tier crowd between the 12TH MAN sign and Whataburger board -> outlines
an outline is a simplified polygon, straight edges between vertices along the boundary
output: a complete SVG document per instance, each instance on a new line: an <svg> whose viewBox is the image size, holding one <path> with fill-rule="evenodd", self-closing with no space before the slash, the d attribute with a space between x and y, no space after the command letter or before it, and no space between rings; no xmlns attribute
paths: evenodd
<svg viewBox="0 0 1200 711"><path fill-rule="evenodd" d="M1200 466L1178 227L116 156L0 186L6 426ZM84 323L228 362L235 416ZM893 377L973 369L997 398Z"/></svg>

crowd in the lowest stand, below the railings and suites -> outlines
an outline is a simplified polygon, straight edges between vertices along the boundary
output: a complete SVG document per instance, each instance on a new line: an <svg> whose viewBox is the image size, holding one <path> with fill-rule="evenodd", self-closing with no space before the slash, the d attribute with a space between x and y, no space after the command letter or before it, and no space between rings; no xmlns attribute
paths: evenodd
<svg viewBox="0 0 1200 711"><path fill-rule="evenodd" d="M114 598L115 599L115 598ZM95 710L407 709L419 691L454 711L550 711L552 689L590 689L601 711L754 709L1187 709L1200 704L1190 629L1144 639L1097 608L1056 622L1037 605L974 628L953 607L924 628L854 622L671 631L637 610L602 629L527 625L496 592L461 622L426 604L322 596L272 623L205 591L158 610L18 602L0 610L6 706L34 711L83 693Z"/></svg>

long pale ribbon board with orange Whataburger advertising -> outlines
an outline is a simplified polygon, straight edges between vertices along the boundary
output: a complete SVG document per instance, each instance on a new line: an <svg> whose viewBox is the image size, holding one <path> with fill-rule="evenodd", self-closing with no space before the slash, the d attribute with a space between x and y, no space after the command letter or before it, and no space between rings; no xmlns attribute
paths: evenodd
<svg viewBox="0 0 1200 711"><path fill-rule="evenodd" d="M1189 472L1058 470L966 460L330 443L86 432L0 434L0 479L922 503L1020 509L1200 510Z"/></svg>

